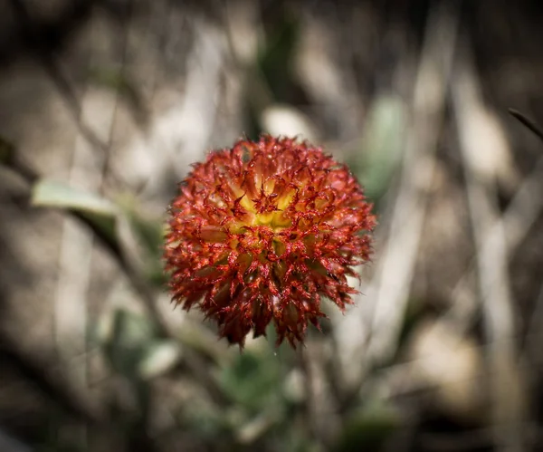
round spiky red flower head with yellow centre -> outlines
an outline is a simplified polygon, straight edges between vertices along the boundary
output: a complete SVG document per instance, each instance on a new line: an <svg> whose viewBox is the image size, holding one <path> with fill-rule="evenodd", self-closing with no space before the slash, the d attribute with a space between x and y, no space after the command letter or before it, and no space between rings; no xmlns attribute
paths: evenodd
<svg viewBox="0 0 543 452"><path fill-rule="evenodd" d="M277 345L319 328L323 297L344 310L367 263L372 205L344 165L308 142L263 135L214 151L179 185L165 261L173 302L194 305L241 348L273 322Z"/></svg>

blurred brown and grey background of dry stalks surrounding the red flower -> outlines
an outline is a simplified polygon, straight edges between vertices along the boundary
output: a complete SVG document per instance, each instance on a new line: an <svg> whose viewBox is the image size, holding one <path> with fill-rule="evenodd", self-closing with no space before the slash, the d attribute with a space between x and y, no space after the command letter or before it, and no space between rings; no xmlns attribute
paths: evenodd
<svg viewBox="0 0 543 452"><path fill-rule="evenodd" d="M0 451L543 450L543 5L0 2ZM526 120L525 120L526 123ZM303 353L169 303L176 184L262 131L379 216Z"/></svg>

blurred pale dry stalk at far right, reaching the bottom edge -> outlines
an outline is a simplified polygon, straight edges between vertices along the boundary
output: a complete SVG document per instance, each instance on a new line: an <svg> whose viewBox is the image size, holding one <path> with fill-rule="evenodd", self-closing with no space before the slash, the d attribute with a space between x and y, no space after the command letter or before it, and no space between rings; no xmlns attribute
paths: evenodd
<svg viewBox="0 0 543 452"><path fill-rule="evenodd" d="M452 101L462 149L468 204L477 248L481 309L489 341L489 380L494 442L499 450L524 450L524 385L515 350L515 325L508 272L508 246L503 225L497 220L496 188L481 177L473 157L491 138L475 130L480 112L480 88L472 65L460 61ZM486 128L491 133L491 128ZM498 226L495 226L498 225ZM490 235L491 234L491 235Z"/></svg>

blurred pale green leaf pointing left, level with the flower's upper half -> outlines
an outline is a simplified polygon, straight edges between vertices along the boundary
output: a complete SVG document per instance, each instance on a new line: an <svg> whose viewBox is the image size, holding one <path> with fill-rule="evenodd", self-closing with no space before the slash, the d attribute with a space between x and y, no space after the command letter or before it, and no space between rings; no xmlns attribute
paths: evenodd
<svg viewBox="0 0 543 452"><path fill-rule="evenodd" d="M108 241L117 241L117 208L109 200L72 188L62 182L41 179L33 186L32 204L71 210L90 223Z"/></svg>

